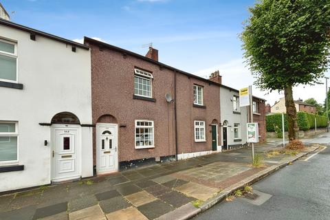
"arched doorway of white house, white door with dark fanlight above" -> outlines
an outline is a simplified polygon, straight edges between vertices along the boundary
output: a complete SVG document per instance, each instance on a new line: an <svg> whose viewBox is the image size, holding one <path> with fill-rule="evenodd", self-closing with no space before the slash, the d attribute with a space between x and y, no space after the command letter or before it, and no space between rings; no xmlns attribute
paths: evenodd
<svg viewBox="0 0 330 220"><path fill-rule="evenodd" d="M74 113L61 112L52 122L52 181L81 177L80 120Z"/></svg>

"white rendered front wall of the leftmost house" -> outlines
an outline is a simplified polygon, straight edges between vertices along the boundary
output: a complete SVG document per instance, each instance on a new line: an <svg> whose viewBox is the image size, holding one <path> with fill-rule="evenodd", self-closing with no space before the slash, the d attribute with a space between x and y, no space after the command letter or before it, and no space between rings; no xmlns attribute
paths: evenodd
<svg viewBox="0 0 330 220"><path fill-rule="evenodd" d="M23 90L0 87L0 120L19 122L19 164L23 171L0 173L0 191L50 184L50 123L59 112L69 111L81 124L91 124L91 61L89 50L72 47L30 33L0 25L0 38L17 41L18 78ZM92 175L92 132L82 128L82 158ZM48 146L43 142L47 140ZM83 152L84 155L85 152ZM85 160L86 159L86 160ZM86 163L86 164L85 164Z"/></svg>

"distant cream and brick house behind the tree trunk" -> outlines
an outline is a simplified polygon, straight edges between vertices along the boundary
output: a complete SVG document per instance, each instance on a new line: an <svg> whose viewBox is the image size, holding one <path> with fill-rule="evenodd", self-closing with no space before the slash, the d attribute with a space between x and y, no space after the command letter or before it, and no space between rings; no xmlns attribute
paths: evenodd
<svg viewBox="0 0 330 220"><path fill-rule="evenodd" d="M294 101L294 104L296 106L297 111L305 111L307 113L315 114L316 113L316 107L308 104L306 102L303 102L303 100L298 99ZM285 108L285 98L280 98L278 102L275 102L275 104L271 108L272 113L282 113L286 112L287 109Z"/></svg>

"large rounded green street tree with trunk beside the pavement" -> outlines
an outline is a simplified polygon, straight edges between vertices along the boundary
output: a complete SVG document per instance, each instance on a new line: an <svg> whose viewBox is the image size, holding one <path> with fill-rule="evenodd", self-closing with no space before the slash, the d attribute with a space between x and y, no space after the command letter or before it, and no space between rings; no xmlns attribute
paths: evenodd
<svg viewBox="0 0 330 220"><path fill-rule="evenodd" d="M292 87L315 85L324 76L329 27L329 0L259 0L244 23L244 57L255 85L285 92L289 140L299 130Z"/></svg>

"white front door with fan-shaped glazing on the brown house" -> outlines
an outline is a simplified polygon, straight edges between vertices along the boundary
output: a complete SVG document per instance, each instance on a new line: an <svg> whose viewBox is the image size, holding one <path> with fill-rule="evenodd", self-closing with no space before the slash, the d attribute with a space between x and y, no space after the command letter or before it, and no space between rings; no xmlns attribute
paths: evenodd
<svg viewBox="0 0 330 220"><path fill-rule="evenodd" d="M96 124L97 173L118 171L118 125Z"/></svg>

